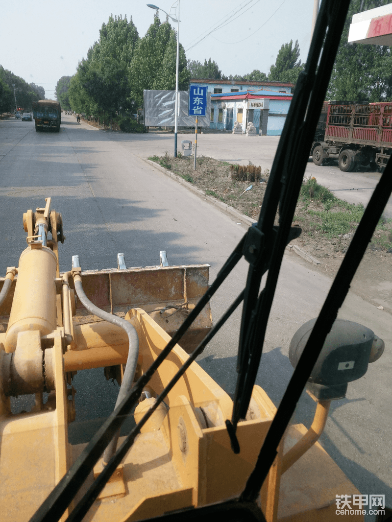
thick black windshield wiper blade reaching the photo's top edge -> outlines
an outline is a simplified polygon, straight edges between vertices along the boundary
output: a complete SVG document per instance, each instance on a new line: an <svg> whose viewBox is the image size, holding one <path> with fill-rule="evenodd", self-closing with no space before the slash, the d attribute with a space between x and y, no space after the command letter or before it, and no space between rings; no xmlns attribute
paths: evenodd
<svg viewBox="0 0 392 522"><path fill-rule="evenodd" d="M321 4L306 68L298 77L259 220L244 245L244 256L250 266L241 319L232 428L228 429L235 451L239 448L233 434L238 421L245 419L256 381L284 249L292 231L295 206L349 3L349 0L332 0ZM279 227L274 230L278 212ZM266 267L269 268L266 286L259 294Z"/></svg>

